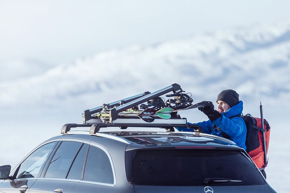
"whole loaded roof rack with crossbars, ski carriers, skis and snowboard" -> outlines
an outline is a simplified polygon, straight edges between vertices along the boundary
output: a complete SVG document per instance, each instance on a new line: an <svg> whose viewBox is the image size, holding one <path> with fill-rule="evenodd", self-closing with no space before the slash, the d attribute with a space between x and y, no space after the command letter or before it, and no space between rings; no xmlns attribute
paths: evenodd
<svg viewBox="0 0 290 193"><path fill-rule="evenodd" d="M173 94L167 94L173 92ZM179 84L153 93L146 91L138 95L119 101L103 104L93 109L85 110L82 114L83 124L65 124L61 133L67 133L73 127L90 127L90 133L97 133L104 127L156 127L174 131L174 127L193 128L199 132L202 128L195 124L187 124L186 118L177 115L178 111L209 105L211 102L203 101L192 104L193 99L182 92ZM160 96L174 97L166 102ZM147 102L147 104L144 104Z"/></svg>

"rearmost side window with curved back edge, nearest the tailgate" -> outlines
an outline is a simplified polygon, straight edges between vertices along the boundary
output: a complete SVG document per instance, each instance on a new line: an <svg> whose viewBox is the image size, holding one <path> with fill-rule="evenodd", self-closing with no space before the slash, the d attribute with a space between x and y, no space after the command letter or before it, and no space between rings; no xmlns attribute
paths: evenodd
<svg viewBox="0 0 290 193"><path fill-rule="evenodd" d="M90 146L83 180L108 184L114 183L110 160L108 155L100 148Z"/></svg>

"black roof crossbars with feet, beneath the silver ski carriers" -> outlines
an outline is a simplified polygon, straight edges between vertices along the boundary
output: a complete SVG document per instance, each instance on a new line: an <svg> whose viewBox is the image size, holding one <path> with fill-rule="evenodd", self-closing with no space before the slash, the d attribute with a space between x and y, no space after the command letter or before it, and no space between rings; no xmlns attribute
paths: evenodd
<svg viewBox="0 0 290 193"><path fill-rule="evenodd" d="M121 129L126 129L128 127L153 127L153 128L164 128L167 132L174 132L174 127L186 127L193 128L194 132L202 132L203 130L199 125L196 124L106 124L106 123L95 123L95 124L76 124L68 123L62 126L61 134L68 133L71 128L76 127L90 127L90 133L98 133L100 128L106 127L120 127Z"/></svg>

